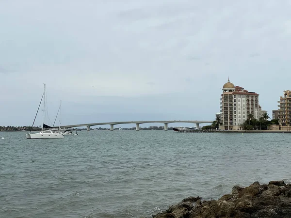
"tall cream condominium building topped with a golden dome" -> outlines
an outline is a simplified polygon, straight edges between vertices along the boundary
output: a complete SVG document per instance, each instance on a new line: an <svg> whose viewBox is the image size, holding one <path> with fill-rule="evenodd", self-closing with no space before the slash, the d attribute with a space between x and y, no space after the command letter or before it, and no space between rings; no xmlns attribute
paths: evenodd
<svg viewBox="0 0 291 218"><path fill-rule="evenodd" d="M249 114L253 114L255 119L261 117L259 94L244 90L240 86L234 86L229 79L222 90L220 98L222 125L220 129L241 129L241 124L247 120Z"/></svg>

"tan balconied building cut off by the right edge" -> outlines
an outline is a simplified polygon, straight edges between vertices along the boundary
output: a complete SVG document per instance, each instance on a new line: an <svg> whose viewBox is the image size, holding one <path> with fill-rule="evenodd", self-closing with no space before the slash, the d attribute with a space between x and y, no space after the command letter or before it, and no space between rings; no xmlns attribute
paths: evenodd
<svg viewBox="0 0 291 218"><path fill-rule="evenodd" d="M291 125L291 91L284 91L284 96L280 96L278 101L279 113L278 119L281 126Z"/></svg>

